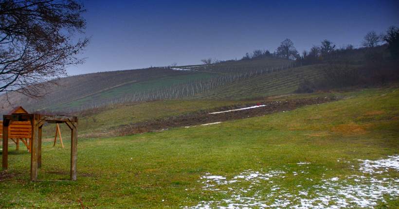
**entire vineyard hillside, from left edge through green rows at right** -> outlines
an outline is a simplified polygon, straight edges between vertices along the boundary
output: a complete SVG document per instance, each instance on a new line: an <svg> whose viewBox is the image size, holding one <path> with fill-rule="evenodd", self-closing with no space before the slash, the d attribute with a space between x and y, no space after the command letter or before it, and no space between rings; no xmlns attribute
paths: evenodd
<svg viewBox="0 0 399 209"><path fill-rule="evenodd" d="M382 52L383 48L378 48ZM346 58L352 64L364 61L365 49L334 52L325 60ZM265 58L220 62L209 65L154 67L70 76L59 79L59 86L45 98L32 100L10 93L13 105L29 112L71 113L112 104L149 100L246 100L290 94L304 79L312 81L322 73L318 65ZM0 96L6 100L5 95ZM4 99L3 99L4 98ZM16 99L17 98L17 99ZM10 107L3 104L2 114Z"/></svg>

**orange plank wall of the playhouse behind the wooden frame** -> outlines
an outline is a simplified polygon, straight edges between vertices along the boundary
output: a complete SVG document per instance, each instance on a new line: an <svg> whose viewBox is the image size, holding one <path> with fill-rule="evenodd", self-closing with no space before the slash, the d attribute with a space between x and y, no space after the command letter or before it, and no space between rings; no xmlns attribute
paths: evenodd
<svg viewBox="0 0 399 209"><path fill-rule="evenodd" d="M3 138L3 122L0 121L0 139ZM19 140L21 140L28 151L31 151L32 139L32 125L31 122L13 122L8 128L8 138L12 139L17 144L17 150L19 149Z"/></svg>

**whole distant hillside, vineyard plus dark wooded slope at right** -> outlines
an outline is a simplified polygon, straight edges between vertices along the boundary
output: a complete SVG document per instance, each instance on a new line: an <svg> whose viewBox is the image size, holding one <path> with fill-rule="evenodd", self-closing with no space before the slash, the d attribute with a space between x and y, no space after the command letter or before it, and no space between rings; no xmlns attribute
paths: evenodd
<svg viewBox="0 0 399 209"><path fill-rule="evenodd" d="M252 100L292 94L304 81L313 86L337 87L331 82L344 77L347 87L384 85L390 80L395 82L398 77L398 63L389 60L385 48L341 50L321 59L308 57L296 62L266 57L70 76L60 78L59 86L49 89L51 92L46 97L37 100L12 92L8 94L10 105L6 95L0 95L0 113L5 114L18 105L29 112L70 114L112 104L153 100ZM330 72L335 78L321 81L326 74L323 69L332 63L341 69ZM341 72L345 68L349 71Z"/></svg>

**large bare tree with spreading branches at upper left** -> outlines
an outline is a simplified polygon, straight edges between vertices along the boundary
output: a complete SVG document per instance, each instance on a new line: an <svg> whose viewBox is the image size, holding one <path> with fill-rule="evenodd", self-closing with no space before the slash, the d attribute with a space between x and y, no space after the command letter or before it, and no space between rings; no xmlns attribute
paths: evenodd
<svg viewBox="0 0 399 209"><path fill-rule="evenodd" d="M83 34L83 4L74 0L0 1L0 92L45 94L89 43Z"/></svg>

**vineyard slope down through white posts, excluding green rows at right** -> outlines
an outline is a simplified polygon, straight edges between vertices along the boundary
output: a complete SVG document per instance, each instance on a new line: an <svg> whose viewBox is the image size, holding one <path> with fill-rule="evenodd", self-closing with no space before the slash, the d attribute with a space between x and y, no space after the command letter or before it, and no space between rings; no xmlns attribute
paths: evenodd
<svg viewBox="0 0 399 209"><path fill-rule="evenodd" d="M289 60L268 59L99 72L61 78L59 87L44 99L22 97L13 103L29 112L62 114L125 102L191 98L295 67Z"/></svg>

